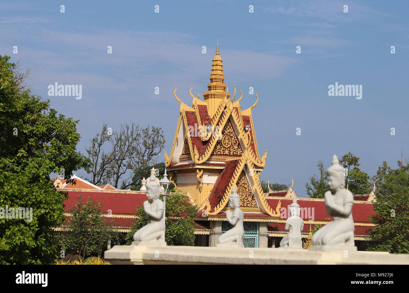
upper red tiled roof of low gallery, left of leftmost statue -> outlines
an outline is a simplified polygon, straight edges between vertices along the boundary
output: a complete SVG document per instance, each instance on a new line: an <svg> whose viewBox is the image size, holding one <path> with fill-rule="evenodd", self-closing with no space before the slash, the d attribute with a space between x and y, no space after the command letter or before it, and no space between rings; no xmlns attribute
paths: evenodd
<svg viewBox="0 0 409 293"><path fill-rule="evenodd" d="M135 215L136 205L142 206L148 198L144 193L119 193L119 192L94 192L94 191L70 191L68 190L68 199L63 201L64 211L69 212L73 208L78 195L88 200L88 196L93 201L102 203L102 212L112 211L112 214Z"/></svg>

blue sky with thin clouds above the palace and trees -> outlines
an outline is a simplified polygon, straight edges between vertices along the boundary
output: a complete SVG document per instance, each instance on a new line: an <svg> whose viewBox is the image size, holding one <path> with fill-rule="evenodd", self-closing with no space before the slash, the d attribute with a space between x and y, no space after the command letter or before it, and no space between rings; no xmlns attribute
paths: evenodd
<svg viewBox="0 0 409 293"><path fill-rule="evenodd" d="M219 40L229 91L243 89L244 109L256 99L249 87L258 92L254 126L260 152L267 149L260 178L294 177L303 197L317 161L328 168L333 154L351 151L370 176L382 161L395 168L401 147L409 157L408 8L407 1L0 1L0 54L33 67L32 92L80 120L79 151L103 122L113 130L134 122L162 127L169 153L179 114L174 87L188 105L191 85L202 97ZM81 84L82 99L49 97L54 82ZM362 99L328 96L335 82L362 85Z"/></svg>

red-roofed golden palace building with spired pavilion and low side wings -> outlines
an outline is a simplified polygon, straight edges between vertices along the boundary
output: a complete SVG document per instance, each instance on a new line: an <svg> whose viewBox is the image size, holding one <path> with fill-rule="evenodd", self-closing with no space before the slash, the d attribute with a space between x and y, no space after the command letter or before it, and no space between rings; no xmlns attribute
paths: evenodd
<svg viewBox="0 0 409 293"><path fill-rule="evenodd" d="M193 96L192 105L186 105L176 95L180 104L172 149L165 152L165 164L169 180L190 198L199 208L196 221L196 246L216 246L218 237L229 230L226 211L233 186L240 195L240 208L244 213L246 247L279 247L280 240L288 233L284 229L289 216L289 206L297 197L293 187L263 193L259 176L265 167L267 150L260 155L257 145L252 110L256 101L243 110L236 98L236 87L231 96L224 83L223 62L217 46L211 66L208 91L203 100ZM152 172L155 172L153 170ZM110 212L109 219L117 222L119 232L126 233L135 221L135 206L147 199L144 185L141 191L117 190L112 186L95 186L74 175L76 185L54 181L61 191L67 191L64 201L65 216L79 195L90 196L102 203L103 212ZM159 180L159 179L158 179ZM146 183L143 180L142 183ZM146 188L145 188L146 190ZM365 241L371 240L369 231L375 226L369 221L374 215L372 202L375 189L367 195L355 195L352 209L355 225L355 245L364 250ZM311 230L315 225L325 225L332 217L326 213L324 199L297 197L304 219L302 237L305 247L311 245ZM108 220L108 216L107 216ZM60 228L61 229L61 228Z"/></svg>

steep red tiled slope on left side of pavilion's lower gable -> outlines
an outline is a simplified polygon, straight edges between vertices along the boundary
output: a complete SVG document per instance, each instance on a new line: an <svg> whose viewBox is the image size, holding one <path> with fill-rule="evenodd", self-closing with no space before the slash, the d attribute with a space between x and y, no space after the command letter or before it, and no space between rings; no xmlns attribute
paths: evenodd
<svg viewBox="0 0 409 293"><path fill-rule="evenodd" d="M233 177L233 172L236 169L239 161L240 160L238 159L225 162L226 167L222 170L222 172L220 172L209 195L209 202L211 206L210 212L213 212L214 208L222 200L227 186L229 186L231 177Z"/></svg>

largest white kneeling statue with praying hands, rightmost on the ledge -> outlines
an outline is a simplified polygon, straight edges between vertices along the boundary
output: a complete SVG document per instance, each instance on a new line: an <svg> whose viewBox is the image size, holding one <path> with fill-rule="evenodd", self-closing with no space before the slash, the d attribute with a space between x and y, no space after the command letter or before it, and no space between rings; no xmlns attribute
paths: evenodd
<svg viewBox="0 0 409 293"><path fill-rule="evenodd" d="M354 221L352 205L354 197L345 189L344 168L334 155L332 166L327 169L328 187L325 192L327 214L334 217L332 221L320 228L312 236L310 250L357 250L354 242Z"/></svg>

